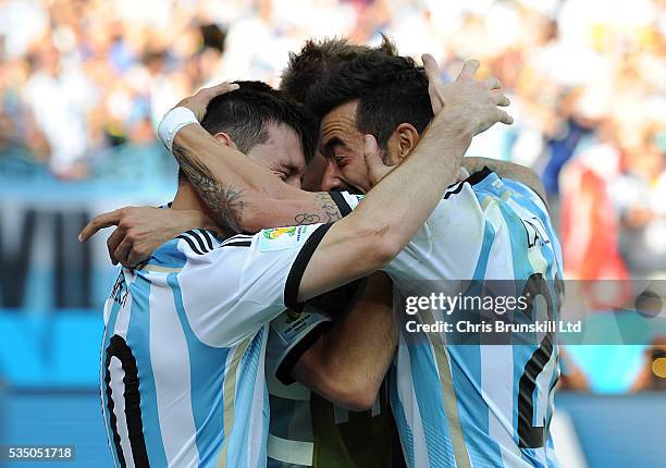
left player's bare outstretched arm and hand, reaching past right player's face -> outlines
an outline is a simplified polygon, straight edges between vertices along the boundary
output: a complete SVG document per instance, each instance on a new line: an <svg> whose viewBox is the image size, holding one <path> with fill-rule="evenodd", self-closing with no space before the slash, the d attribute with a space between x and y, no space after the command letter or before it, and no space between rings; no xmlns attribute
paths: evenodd
<svg viewBox="0 0 666 468"><path fill-rule="evenodd" d="M444 85L435 60L423 56L429 94L437 111L416 149L385 175L359 207L334 223L308 262L298 299L304 301L388 263L430 217L460 167L473 135L497 122L513 123L498 106L508 99L494 82L474 79L479 62L469 61L458 78ZM365 156L379 148L365 137ZM418 184L415 184L418 181Z"/></svg>

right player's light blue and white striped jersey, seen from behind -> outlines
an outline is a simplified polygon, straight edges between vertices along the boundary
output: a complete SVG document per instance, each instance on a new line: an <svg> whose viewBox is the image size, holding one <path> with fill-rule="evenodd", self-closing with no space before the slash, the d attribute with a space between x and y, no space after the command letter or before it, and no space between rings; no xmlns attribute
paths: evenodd
<svg viewBox="0 0 666 468"><path fill-rule="evenodd" d="M359 198L345 195L351 208ZM384 270L403 299L437 286L455 295L470 280L504 281L513 296L542 296L534 313L558 315L551 285L562 279L562 253L546 207L527 186L489 170L447 190ZM444 312L412 317L430 324ZM402 328L390 390L410 467L558 466L548 433L557 344L552 333L511 343L447 344L443 332Z"/></svg>

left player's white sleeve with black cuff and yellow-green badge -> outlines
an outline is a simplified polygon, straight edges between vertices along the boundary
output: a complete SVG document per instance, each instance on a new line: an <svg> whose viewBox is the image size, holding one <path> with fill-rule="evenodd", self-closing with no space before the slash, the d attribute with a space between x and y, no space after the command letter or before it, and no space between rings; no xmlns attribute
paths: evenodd
<svg viewBox="0 0 666 468"><path fill-rule="evenodd" d="M210 251L186 250L177 290L193 331L207 344L230 346L297 303L303 274L330 224L262 230ZM177 301L177 298L176 298Z"/></svg>

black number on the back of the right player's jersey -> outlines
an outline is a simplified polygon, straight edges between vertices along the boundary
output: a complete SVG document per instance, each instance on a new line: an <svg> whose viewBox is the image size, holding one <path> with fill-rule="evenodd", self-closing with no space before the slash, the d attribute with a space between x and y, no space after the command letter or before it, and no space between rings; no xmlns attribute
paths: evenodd
<svg viewBox="0 0 666 468"><path fill-rule="evenodd" d="M538 298L542 298L546 306L546 315L550 321L554 320L555 308L559 308L559 297L564 292L562 280L555 279L555 301L548 290L546 281L541 273L532 274L522 291L522 296L528 299L528 307L525 310L530 320L534 320L534 306ZM534 390L536 380L546 364L553 356L555 349L555 336L553 332L547 332L539 348L532 354L530 360L525 365L525 370L518 383L518 440L521 448L539 448L545 445L548 439L548 426L551 421L544 421L543 426L532 426L534 420ZM555 386L548 389L553 391Z"/></svg>

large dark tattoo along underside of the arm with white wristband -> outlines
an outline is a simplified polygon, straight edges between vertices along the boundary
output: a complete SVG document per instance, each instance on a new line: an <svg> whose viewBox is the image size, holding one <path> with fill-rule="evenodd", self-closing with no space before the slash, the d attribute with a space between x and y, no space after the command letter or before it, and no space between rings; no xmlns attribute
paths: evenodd
<svg viewBox="0 0 666 468"><path fill-rule="evenodd" d="M242 231L243 190L236 189L232 184L218 183L208 168L201 164L189 149L174 143L173 155L203 202L212 211L215 222L232 231Z"/></svg>

